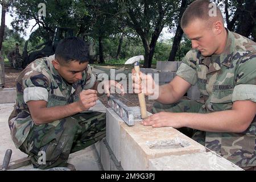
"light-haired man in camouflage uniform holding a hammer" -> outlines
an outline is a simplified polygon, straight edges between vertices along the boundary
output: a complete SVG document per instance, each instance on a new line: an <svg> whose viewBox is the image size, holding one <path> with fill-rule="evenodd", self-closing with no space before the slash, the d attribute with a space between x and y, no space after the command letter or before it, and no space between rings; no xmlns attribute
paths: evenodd
<svg viewBox="0 0 256 182"><path fill-rule="evenodd" d="M143 125L189 131L185 134L234 164L255 169L256 43L226 29L220 9L210 3L198 0L185 10L181 27L192 49L175 78L154 90L159 93L152 108L156 114ZM209 16L214 7L216 15ZM154 94L133 79L137 93ZM199 87L203 101L180 100L191 85Z"/></svg>

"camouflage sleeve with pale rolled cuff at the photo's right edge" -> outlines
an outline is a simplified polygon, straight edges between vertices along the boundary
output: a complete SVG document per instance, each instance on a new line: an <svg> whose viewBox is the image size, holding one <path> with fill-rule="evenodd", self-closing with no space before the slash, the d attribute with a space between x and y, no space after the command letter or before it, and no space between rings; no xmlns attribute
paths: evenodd
<svg viewBox="0 0 256 182"><path fill-rule="evenodd" d="M238 65L232 101L256 102L256 53Z"/></svg>

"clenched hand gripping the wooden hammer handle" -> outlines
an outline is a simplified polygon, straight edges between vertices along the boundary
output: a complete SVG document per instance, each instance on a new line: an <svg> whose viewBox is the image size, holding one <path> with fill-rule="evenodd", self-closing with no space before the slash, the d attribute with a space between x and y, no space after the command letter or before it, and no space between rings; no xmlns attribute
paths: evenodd
<svg viewBox="0 0 256 182"><path fill-rule="evenodd" d="M159 91L157 89L158 85L155 84L151 75L145 75L142 72L139 72L138 75L135 69L132 69L131 73L133 73L131 78L133 79L134 93L144 93L146 96L152 96Z"/></svg>

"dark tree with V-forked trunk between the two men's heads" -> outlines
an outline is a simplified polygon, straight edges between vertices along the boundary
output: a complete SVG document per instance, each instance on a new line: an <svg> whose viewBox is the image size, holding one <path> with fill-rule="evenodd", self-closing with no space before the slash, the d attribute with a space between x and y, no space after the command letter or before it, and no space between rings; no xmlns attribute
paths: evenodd
<svg viewBox="0 0 256 182"><path fill-rule="evenodd" d="M124 0L119 5L126 10L126 24L141 37L144 47L144 68L150 68L156 42L164 25L172 23L177 1Z"/></svg>

